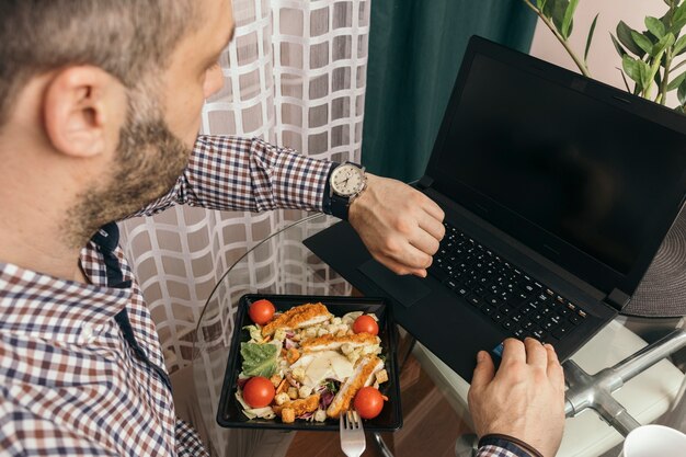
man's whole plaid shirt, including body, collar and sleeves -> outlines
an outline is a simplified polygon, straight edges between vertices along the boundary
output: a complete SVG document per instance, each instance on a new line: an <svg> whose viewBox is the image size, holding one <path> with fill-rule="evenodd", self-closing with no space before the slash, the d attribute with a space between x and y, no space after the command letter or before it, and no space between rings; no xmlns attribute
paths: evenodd
<svg viewBox="0 0 686 457"><path fill-rule="evenodd" d="M322 210L330 162L259 139L198 137L174 204ZM0 456L206 456L174 414L162 350L110 224L81 250L91 284L0 263ZM518 457L484 446L481 457Z"/></svg>

